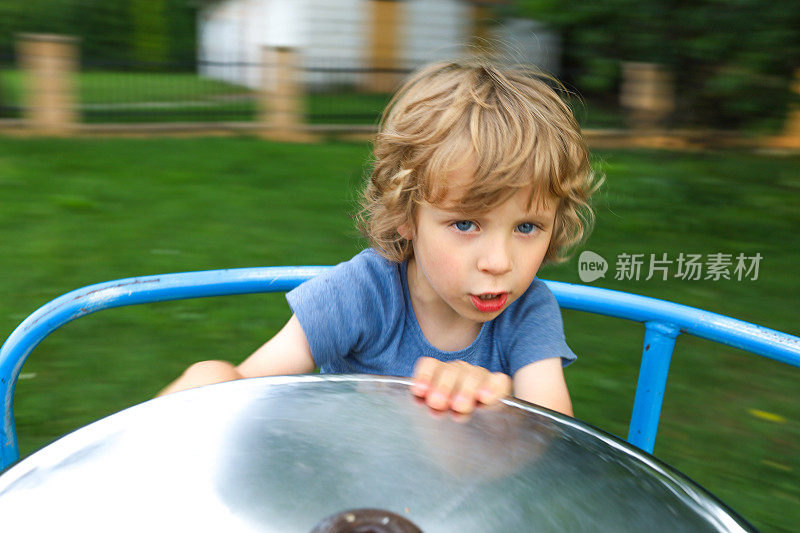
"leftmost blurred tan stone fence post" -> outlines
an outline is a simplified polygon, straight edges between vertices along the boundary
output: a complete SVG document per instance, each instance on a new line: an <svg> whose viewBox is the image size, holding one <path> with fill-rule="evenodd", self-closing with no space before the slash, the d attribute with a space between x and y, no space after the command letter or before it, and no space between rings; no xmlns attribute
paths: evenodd
<svg viewBox="0 0 800 533"><path fill-rule="evenodd" d="M75 73L77 39L21 34L17 61L24 72L23 115L35 134L70 135L78 122Z"/></svg>

